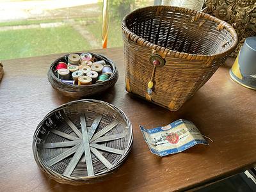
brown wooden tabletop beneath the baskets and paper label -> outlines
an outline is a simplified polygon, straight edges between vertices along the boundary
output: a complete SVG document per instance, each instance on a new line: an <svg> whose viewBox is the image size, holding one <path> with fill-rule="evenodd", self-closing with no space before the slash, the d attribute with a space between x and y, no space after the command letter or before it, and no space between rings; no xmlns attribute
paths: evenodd
<svg viewBox="0 0 256 192"><path fill-rule="evenodd" d="M108 180L68 186L48 179L36 165L31 143L38 123L72 99L58 94L47 68L62 54L3 61L0 83L0 191L176 191L195 188L250 168L256 163L256 92L229 77L233 59L180 108L172 112L125 92L122 48L95 50L116 62L115 87L93 97L115 104L132 122L134 145L125 164ZM152 128L179 118L191 120L213 143L179 154L151 154L139 125Z"/></svg>

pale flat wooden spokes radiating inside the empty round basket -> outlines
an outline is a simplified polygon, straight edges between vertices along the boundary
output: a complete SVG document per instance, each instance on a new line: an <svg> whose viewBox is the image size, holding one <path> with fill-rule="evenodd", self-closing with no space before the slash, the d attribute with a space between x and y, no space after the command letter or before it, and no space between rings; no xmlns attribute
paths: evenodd
<svg viewBox="0 0 256 192"><path fill-rule="evenodd" d="M74 123L70 120L70 118L68 118L68 116L65 115L63 111L60 111L60 113L63 116L64 121L69 125L72 131L74 131L79 138L77 138L76 136L67 134L65 132L58 131L56 129L50 129L49 131L51 131L52 133L71 141L44 143L42 148L49 148L49 149L63 148L63 147L71 147L71 148L68 148L68 150L65 150L65 152L47 161L47 165L52 166L56 163L59 163L63 159L71 156L72 154L74 154L74 156L71 158L70 162L68 163L67 168L65 169L65 172L63 173L64 176L70 176L72 175L72 172L74 172L79 161L81 161L81 157L83 156L83 154L85 154L87 174L88 176L93 176L94 171L93 171L93 163L92 163L92 154L94 154L95 157L97 157L97 159L99 159L99 161L102 164L104 164L104 166L106 166L106 168L108 169L113 168L113 164L111 164L108 161L108 159L106 159L106 157L104 157L102 153L99 152L99 150L102 150L104 152L109 152L112 154L119 154L119 155L123 155L124 150L111 148L104 145L99 145L97 143L106 143L108 141L119 140L124 138L124 133L105 135L106 133L111 131L111 129L116 127L116 125L118 125L118 122L114 120L110 124L106 125L106 127L103 127L100 131L97 132L97 128L99 127L100 121L102 120L102 115L96 116L96 118L93 120L92 125L90 127L87 127L85 115L84 113L81 113L80 114L81 131L79 131L76 125L74 125Z"/></svg>

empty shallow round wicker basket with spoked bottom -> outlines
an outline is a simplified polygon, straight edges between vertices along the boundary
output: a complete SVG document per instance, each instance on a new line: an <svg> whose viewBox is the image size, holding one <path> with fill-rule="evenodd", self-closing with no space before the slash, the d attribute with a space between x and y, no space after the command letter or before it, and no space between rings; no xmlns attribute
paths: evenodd
<svg viewBox="0 0 256 192"><path fill-rule="evenodd" d="M99 182L124 163L132 148L124 112L100 100L76 100L48 113L36 127L39 168L60 183Z"/></svg>

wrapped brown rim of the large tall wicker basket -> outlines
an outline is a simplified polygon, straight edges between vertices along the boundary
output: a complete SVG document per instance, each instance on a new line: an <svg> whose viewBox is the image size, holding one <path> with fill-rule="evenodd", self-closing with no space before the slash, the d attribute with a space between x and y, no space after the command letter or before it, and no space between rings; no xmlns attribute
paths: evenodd
<svg viewBox="0 0 256 192"><path fill-rule="evenodd" d="M128 17L132 17L132 15L134 13L143 12L143 11L151 9L151 8L154 8L156 10L158 10L159 8L161 8L161 9L167 8L167 9L174 9L175 11L179 11L182 13L195 13L195 17L197 17L198 19L204 18L204 19L216 22L219 25L221 24L221 28L227 29L227 31L231 34L232 38L234 39L234 42L226 51L221 52L221 53L216 53L216 54L191 54L188 52L173 51L172 49L168 49L166 47L162 47L160 45L153 44L153 43L149 42L148 40L145 40L144 38L141 38L140 36L136 35L135 33L132 33L132 31L130 31L130 29L128 29L126 26L126 20ZM208 13L191 10L189 8L180 8L177 6L158 5L158 6L145 6L143 8L138 8L138 9L128 13L127 15L125 15L124 19L122 19L122 22L121 22L121 28L122 28L122 32L124 33L126 38L128 38L128 40L131 40L132 42L135 42L136 44L141 45L143 47L147 47L152 50L156 50L164 57L166 55L168 55L168 56L173 56L174 58L182 58L182 59L189 58L189 60L209 60L209 59L213 59L213 58L221 58L223 56L226 56L228 54L228 52L231 52L233 49L235 49L236 45L238 43L238 37L237 37L237 33L236 33L235 29L230 24L225 22L224 20L218 19L217 17L209 15Z"/></svg>

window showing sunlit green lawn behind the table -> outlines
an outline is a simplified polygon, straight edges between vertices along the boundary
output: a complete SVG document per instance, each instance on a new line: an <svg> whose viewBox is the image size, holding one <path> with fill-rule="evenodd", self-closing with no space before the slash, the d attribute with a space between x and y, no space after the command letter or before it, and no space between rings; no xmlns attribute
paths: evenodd
<svg viewBox="0 0 256 192"><path fill-rule="evenodd" d="M102 0L3 0L0 60L102 48ZM109 0L108 47L122 46L120 21L146 0Z"/></svg>

